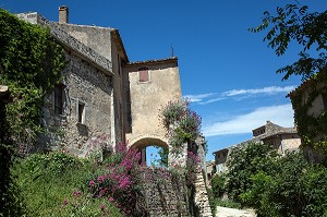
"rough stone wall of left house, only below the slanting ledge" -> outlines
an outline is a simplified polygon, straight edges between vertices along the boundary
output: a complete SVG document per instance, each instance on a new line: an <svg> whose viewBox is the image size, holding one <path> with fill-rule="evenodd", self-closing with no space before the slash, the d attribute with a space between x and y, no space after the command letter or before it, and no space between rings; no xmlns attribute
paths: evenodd
<svg viewBox="0 0 327 217"><path fill-rule="evenodd" d="M70 64L64 72L64 109L55 113L55 95L45 100L43 123L49 130L49 143L63 143L77 152L95 135L111 136L112 77L98 71L74 55L66 55ZM78 104L83 103L84 122L77 121ZM59 132L60 131L60 132Z"/></svg>

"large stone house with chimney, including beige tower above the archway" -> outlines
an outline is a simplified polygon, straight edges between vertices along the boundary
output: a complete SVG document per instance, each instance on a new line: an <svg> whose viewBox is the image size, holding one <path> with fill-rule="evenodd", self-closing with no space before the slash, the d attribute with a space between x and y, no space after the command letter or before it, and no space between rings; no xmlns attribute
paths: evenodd
<svg viewBox="0 0 327 217"><path fill-rule="evenodd" d="M118 29L69 24L66 7L59 8L59 22L36 12L17 16L50 28L69 61L62 83L45 99L43 144L64 144L80 156L118 142L168 146L158 112L181 98L175 57L130 62Z"/></svg>

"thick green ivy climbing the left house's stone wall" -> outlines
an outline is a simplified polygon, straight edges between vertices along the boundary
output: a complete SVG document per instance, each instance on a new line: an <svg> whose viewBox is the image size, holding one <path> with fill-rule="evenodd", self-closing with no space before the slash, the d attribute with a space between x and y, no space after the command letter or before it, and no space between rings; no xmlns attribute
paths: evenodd
<svg viewBox="0 0 327 217"><path fill-rule="evenodd" d="M40 106L59 82L63 49L49 29L26 23L0 9L0 84L10 87L9 132L17 146L33 144L40 132Z"/></svg>

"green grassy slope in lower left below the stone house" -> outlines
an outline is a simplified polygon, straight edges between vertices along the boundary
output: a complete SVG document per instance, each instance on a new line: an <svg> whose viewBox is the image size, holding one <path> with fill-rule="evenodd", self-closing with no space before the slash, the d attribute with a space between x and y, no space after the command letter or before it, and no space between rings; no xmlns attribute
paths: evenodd
<svg viewBox="0 0 327 217"><path fill-rule="evenodd" d="M17 159L11 172L27 216L123 216L108 200L87 194L99 170L90 161L50 153Z"/></svg>

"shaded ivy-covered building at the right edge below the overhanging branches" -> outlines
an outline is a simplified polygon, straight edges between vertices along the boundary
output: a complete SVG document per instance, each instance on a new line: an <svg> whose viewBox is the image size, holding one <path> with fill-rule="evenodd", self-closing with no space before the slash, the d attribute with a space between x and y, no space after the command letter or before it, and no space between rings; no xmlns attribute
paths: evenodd
<svg viewBox="0 0 327 217"><path fill-rule="evenodd" d="M316 74L288 95L291 98L294 119L303 140L304 155L311 161L322 161L326 158L327 149L324 153L322 152L324 148L315 149L313 145L316 143L317 146L320 146L319 143L327 141L327 82L325 76Z"/></svg>

